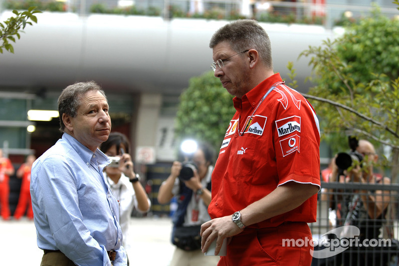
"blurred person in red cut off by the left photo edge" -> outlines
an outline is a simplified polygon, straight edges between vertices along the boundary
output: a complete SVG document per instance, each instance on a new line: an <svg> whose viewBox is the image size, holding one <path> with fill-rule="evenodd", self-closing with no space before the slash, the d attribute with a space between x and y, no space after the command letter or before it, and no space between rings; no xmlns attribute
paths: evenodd
<svg viewBox="0 0 399 266"><path fill-rule="evenodd" d="M11 215L8 205L9 197L9 177L14 174L15 170L11 161L3 156L3 150L0 149L0 208L3 220L9 220Z"/></svg>

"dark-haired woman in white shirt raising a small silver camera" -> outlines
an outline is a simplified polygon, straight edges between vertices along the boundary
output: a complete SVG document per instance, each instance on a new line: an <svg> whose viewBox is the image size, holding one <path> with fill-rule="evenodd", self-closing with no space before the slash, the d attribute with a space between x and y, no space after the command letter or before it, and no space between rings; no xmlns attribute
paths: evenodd
<svg viewBox="0 0 399 266"><path fill-rule="evenodd" d="M104 168L104 176L119 202L119 223L123 233L123 247L128 254L134 254L129 230L130 217L133 209L140 213L148 212L151 202L140 182L139 174L134 172L129 146L129 140L124 134L112 132L108 140L100 145L100 150L107 156L120 158L118 164Z"/></svg>

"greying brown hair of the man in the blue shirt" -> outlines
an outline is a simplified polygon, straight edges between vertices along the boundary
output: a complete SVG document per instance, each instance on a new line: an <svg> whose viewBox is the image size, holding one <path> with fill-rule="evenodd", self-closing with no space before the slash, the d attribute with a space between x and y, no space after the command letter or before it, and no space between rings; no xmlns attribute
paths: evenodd
<svg viewBox="0 0 399 266"><path fill-rule="evenodd" d="M91 90L100 92L105 99L107 99L103 89L93 80L88 82L76 82L75 84L67 86L61 92L61 95L58 97L59 130L61 132L64 132L65 130L65 124L64 121L62 121L62 114L76 117L80 106L81 96Z"/></svg>

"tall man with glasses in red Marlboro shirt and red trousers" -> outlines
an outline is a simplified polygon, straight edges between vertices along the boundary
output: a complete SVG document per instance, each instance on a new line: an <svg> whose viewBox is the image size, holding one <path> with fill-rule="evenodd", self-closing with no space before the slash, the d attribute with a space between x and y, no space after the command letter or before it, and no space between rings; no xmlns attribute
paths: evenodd
<svg viewBox="0 0 399 266"><path fill-rule="evenodd" d="M320 189L316 114L273 72L270 40L256 21L226 24L209 46L211 68L235 96L236 113L212 173L202 252L216 240L217 255L227 241L219 266L310 265L307 223L316 221Z"/></svg>

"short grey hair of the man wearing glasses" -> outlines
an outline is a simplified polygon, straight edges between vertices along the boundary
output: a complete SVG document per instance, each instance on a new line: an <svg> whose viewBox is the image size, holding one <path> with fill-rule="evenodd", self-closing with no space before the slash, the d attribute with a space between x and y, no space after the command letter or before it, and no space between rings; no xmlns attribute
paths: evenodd
<svg viewBox="0 0 399 266"><path fill-rule="evenodd" d="M232 21L213 33L209 47L226 41L231 48L239 53L248 49L255 49L263 64L273 69L271 58L271 43L266 31L252 19L238 19Z"/></svg>

